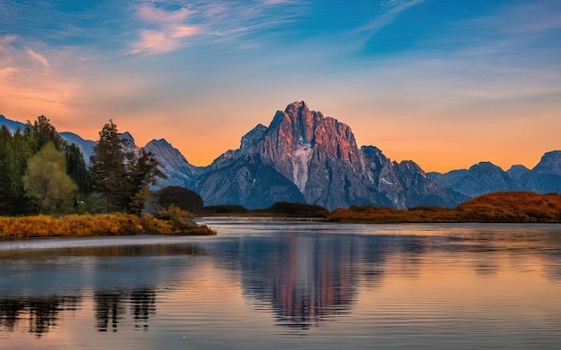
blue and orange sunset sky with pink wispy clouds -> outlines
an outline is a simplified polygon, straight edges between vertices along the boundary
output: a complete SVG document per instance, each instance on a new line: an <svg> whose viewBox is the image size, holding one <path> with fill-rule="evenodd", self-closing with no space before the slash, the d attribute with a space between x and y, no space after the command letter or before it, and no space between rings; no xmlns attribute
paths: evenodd
<svg viewBox="0 0 561 350"><path fill-rule="evenodd" d="M561 149L558 0L2 0L0 115L211 164L305 101L426 171Z"/></svg>

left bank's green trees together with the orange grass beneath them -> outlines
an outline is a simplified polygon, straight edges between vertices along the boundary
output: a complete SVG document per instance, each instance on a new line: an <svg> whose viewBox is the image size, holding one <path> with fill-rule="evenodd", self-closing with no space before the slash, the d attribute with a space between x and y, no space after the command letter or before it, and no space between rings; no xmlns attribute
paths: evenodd
<svg viewBox="0 0 561 350"><path fill-rule="evenodd" d="M2 126L0 237L216 234L173 203L144 213L150 186L166 176L112 120L99 132L90 163L44 115L23 130Z"/></svg>

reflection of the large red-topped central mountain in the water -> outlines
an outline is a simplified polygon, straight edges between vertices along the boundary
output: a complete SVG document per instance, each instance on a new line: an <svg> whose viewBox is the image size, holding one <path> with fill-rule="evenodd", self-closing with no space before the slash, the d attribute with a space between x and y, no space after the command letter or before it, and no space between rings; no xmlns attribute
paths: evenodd
<svg viewBox="0 0 561 350"><path fill-rule="evenodd" d="M259 309L272 306L277 324L317 327L350 312L360 282L381 286L384 261L399 254L414 275L426 243L414 235L309 235L288 232L221 244L216 259L241 270L244 293Z"/></svg>

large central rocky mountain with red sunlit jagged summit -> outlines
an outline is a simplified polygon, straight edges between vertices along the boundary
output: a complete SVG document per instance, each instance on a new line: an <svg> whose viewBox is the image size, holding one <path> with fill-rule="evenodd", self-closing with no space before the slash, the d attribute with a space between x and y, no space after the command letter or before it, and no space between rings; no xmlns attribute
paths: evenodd
<svg viewBox="0 0 561 350"><path fill-rule="evenodd" d="M258 124L247 132L239 149L205 168L195 191L207 205L249 209L266 208L273 201L302 201L327 209L357 204L452 206L465 198L438 187L412 161L392 162L371 146L358 149L349 125L311 111L305 102L277 111L268 127ZM280 194L288 198L280 199Z"/></svg>

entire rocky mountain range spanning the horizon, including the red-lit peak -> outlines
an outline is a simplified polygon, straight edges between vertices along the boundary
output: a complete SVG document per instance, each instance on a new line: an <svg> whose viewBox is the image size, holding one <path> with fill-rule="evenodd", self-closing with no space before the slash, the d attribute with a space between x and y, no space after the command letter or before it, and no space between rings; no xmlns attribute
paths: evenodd
<svg viewBox="0 0 561 350"><path fill-rule="evenodd" d="M25 124L0 115L0 125L14 131ZM89 158L95 141L60 132ZM131 150L141 148L122 133ZM311 111L305 102L277 111L269 126L257 124L242 136L240 147L228 150L209 166L193 166L164 139L142 149L151 152L168 176L163 185L198 192L205 205L236 204L267 208L277 201L305 202L327 209L352 205L393 208L453 207L462 201L496 191L561 192L561 151L546 153L532 169L508 171L490 162L469 169L425 173L412 160L386 158L375 146L358 148L350 126Z"/></svg>

